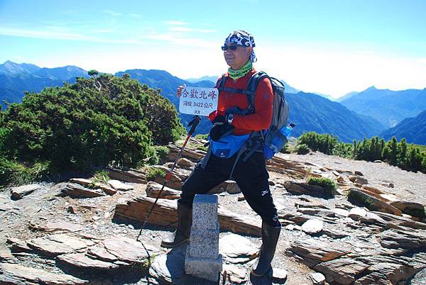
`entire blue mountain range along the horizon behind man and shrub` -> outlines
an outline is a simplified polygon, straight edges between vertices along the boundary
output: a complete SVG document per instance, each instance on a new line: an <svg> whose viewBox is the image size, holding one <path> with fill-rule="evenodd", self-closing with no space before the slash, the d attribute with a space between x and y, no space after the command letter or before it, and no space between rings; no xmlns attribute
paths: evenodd
<svg viewBox="0 0 426 285"><path fill-rule="evenodd" d="M122 76L124 73L129 74L132 79L137 79L141 84L147 84L153 89L161 89L161 94L175 104L177 108L179 102L175 92L178 86L187 84L187 86L213 87L217 79L212 80L212 77L202 77L201 79L205 80L195 79L195 81L190 82L163 70L155 69L129 69L124 72L117 72L115 75ZM11 103L20 102L23 97L23 91L39 92L45 86L60 86L63 82L74 82L75 77L88 76L84 69L75 66L40 68L35 65L19 65L8 61L4 65L0 65L0 101L6 99ZM317 94L298 91L285 82L284 84L286 98L290 103L290 121L297 125L293 130L293 135L295 136L305 131L313 130L317 133L337 135L341 140L351 143L354 139L370 138L373 135L380 135L383 131L383 135L388 135L387 131L385 131L388 127L381 122L386 121L383 117L392 117L389 113L395 117L395 121L398 119L400 121L406 118L403 117L404 113L415 113L417 115L420 113L420 108L426 109L426 104L423 104L426 97L426 89L389 91L370 88L359 93L353 92L350 96L348 94L342 100L342 105ZM403 96L405 96L405 100L400 98ZM397 103L388 102L392 100ZM414 104L415 100L418 102L417 105ZM366 102L371 101L376 103L366 104ZM363 104L366 104L368 108ZM395 105L398 105L398 108ZM354 108L359 108L359 106L364 106L364 108L361 108L361 111L354 110ZM391 110L387 108L391 108ZM369 111L366 112L366 109ZM388 115L377 116L382 113ZM182 123L186 125L192 116L180 114L180 118ZM414 120L422 121L422 118L415 118ZM414 125L414 123L411 122L411 125ZM207 118L203 118L202 123L197 128L198 133L207 133L210 127L211 123ZM424 133L424 128L418 128L419 131L421 130ZM408 129L408 127L403 127L403 129ZM416 128L412 128L412 130L412 133L416 132ZM417 143L426 144L426 140L422 141L422 138L420 138L420 141L417 141L417 137L415 135L410 136L410 138L407 137L408 142L410 143L411 139L415 139Z"/></svg>

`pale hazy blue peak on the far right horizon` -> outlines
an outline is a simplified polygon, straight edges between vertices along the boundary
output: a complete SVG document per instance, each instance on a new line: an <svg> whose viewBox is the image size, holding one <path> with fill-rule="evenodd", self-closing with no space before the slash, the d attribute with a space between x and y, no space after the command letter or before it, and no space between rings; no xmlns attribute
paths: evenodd
<svg viewBox="0 0 426 285"><path fill-rule="evenodd" d="M356 113L376 118L391 128L404 118L415 117L426 110L426 89L392 91L371 86L339 103Z"/></svg>

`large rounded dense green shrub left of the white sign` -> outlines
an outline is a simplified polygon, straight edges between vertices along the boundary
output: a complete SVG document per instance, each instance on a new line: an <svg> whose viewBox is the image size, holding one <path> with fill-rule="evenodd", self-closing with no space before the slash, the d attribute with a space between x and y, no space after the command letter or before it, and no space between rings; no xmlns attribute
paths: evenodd
<svg viewBox="0 0 426 285"><path fill-rule="evenodd" d="M18 164L47 161L60 172L137 168L158 160L153 145L176 140L182 130L175 107L155 90L100 74L11 104L1 113L0 151Z"/></svg>

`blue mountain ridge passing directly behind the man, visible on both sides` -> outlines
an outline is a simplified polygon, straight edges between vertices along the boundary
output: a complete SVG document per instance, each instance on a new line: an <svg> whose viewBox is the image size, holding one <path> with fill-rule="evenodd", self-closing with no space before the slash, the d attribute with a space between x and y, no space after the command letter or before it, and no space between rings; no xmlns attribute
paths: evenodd
<svg viewBox="0 0 426 285"><path fill-rule="evenodd" d="M213 87L212 81L187 82L178 77L174 77L162 70L132 69L125 72L117 72L117 76L124 73L130 74L131 78L138 82L146 83L154 89L161 89L161 94L169 99L178 108L178 98L176 88L182 84L192 86ZM288 87L286 85L286 90ZM298 92L297 94L287 93L286 98L290 104L290 121L297 126L293 135L301 135L304 131L314 130L318 133L331 133L337 135L341 140L351 143L354 138L362 140L373 135L378 135L385 127L373 118L359 116L333 101L322 96L310 93ZM182 116L182 115L181 115ZM183 122L190 121L191 116L182 116ZM197 127L198 133L208 133L211 123L207 118L203 118Z"/></svg>

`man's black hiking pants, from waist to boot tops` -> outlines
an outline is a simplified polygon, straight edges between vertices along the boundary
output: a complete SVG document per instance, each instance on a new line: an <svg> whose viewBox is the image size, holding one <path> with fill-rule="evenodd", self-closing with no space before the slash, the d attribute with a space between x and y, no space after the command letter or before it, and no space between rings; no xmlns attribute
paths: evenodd
<svg viewBox="0 0 426 285"><path fill-rule="evenodd" d="M263 153L254 152L246 162L243 161L242 157L244 157L244 154L241 155L233 173L236 184L238 184L253 211L269 225L279 227L280 222L269 190L269 174L266 170ZM206 158L204 157L204 159ZM199 162L190 177L182 184L182 194L178 203L192 208L195 194L206 194L215 186L229 179L235 160L236 155L224 159L211 154L204 168L202 168L202 161Z"/></svg>

